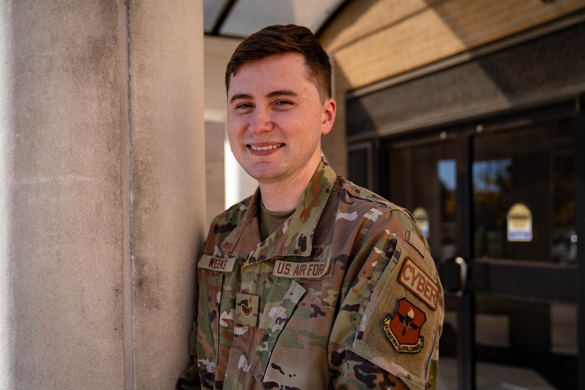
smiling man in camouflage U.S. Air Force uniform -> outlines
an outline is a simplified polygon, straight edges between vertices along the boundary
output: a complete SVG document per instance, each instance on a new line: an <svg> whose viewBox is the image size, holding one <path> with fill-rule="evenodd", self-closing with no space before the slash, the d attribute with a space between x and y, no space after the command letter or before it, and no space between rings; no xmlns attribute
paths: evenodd
<svg viewBox="0 0 585 390"><path fill-rule="evenodd" d="M260 30L228 64L230 145L259 189L211 224L194 365L177 389L436 389L435 265L408 211L321 158L330 77L315 37L293 25ZM291 208L261 237L263 212Z"/></svg>

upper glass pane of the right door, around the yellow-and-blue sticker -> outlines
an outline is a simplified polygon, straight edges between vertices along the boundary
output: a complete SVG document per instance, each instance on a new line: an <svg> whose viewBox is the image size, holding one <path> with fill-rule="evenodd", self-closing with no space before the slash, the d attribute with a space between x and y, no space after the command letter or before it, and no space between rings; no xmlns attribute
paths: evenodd
<svg viewBox="0 0 585 390"><path fill-rule="evenodd" d="M574 263L575 182L570 119L473 140L474 255ZM507 216L524 204L531 240L512 241Z"/></svg>

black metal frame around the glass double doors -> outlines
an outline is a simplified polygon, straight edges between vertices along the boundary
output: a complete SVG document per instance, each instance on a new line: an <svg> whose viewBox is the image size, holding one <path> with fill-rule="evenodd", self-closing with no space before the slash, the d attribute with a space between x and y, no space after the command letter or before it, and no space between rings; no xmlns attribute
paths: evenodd
<svg viewBox="0 0 585 390"><path fill-rule="evenodd" d="M457 336L457 368L458 384L460 389L476 389L476 347L474 340L474 294L479 292L494 293L508 297L534 297L562 302L573 302L579 306L577 317L578 350L577 372L579 373L579 389L585 390L585 249L577 251L577 266L558 266L555 264L532 264L531 262L484 260L473 258L473 199L472 199L472 162L473 137L481 131L495 132L518 128L519 126L536 124L555 118L573 117L574 141L579 146L575 150L575 185L576 185L576 219L575 228L577 237L581 241L585 238L585 97L574 98L570 101L537 107L507 115L493 115L491 118L477 118L462 125L450 125L449 131L456 134L456 161L457 161L457 190L456 190L456 220L457 220L457 255L466 259L469 269L469 280L466 288L458 294L457 321L459 334ZM483 124L477 126L478 124ZM409 131L408 135L397 135L374 139L378 161L377 183L382 186L377 190L384 197L390 195L390 180L387 179L390 145L393 142L404 141L429 134L439 134L441 128L420 129ZM580 152L583 150L583 152ZM391 199L390 199L391 200ZM579 201L581 200L581 201ZM585 247L585 245L581 245ZM439 267L441 269L441 267ZM441 272L441 271L439 271ZM510 283L498 283L498 279L505 275L532 275L532 282L524 283L521 289ZM542 288L542 281L548 281L548 289ZM567 288L568 286L568 288Z"/></svg>

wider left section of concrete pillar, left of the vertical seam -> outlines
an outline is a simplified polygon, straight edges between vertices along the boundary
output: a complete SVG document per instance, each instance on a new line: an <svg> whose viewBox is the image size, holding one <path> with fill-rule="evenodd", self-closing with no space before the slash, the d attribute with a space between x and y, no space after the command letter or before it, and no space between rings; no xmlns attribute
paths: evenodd
<svg viewBox="0 0 585 390"><path fill-rule="evenodd" d="M0 388L120 389L118 6L1 6Z"/></svg>

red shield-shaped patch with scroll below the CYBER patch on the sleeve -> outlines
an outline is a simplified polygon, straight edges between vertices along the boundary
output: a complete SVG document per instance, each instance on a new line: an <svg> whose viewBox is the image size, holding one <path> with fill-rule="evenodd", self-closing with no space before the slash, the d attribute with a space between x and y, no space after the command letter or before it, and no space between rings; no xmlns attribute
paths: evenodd
<svg viewBox="0 0 585 390"><path fill-rule="evenodd" d="M382 330L397 353L416 354L424 347L425 336L420 331L425 321L426 314L401 297L394 314L387 313L382 319Z"/></svg>

